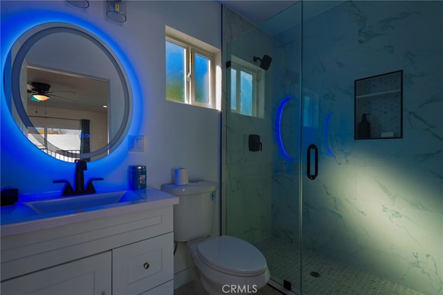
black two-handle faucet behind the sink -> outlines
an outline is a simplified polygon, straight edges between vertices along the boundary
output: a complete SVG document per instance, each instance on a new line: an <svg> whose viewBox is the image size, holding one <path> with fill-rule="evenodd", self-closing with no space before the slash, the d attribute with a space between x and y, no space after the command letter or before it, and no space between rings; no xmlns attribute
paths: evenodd
<svg viewBox="0 0 443 295"><path fill-rule="evenodd" d="M84 195L86 193L96 193L96 188L93 186L92 182L95 180L103 180L103 178L90 178L88 180L88 184L86 189L84 187L84 171L88 170L86 160L75 160L75 179L74 179L74 187L75 190L72 189L71 184L68 180L53 180L53 183L66 183L64 186L62 196L75 196L75 195Z"/></svg>

